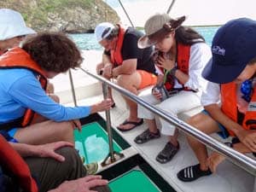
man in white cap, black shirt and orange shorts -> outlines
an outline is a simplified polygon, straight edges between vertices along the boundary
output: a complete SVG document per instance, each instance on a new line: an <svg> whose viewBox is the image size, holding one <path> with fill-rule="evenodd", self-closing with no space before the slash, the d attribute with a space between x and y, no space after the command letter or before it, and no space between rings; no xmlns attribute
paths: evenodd
<svg viewBox="0 0 256 192"><path fill-rule="evenodd" d="M150 57L152 47L138 49L137 40L142 32L132 27L124 28L119 24L100 23L95 29L96 40L105 49L102 62L96 67L97 73L102 73L106 79L117 79L117 84L135 95L138 90L156 83L154 61ZM113 97L110 92L110 97ZM130 131L143 124L143 119L137 118L137 103L124 97L130 108L128 119L119 125L119 131Z"/></svg>

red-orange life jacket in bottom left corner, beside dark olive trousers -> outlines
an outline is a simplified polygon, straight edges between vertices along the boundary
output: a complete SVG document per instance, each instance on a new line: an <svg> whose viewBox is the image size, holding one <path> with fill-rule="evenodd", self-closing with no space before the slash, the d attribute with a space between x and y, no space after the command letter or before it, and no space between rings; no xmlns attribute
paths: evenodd
<svg viewBox="0 0 256 192"><path fill-rule="evenodd" d="M26 162L0 134L0 165L14 175L25 192L38 192L38 185L31 176Z"/></svg>

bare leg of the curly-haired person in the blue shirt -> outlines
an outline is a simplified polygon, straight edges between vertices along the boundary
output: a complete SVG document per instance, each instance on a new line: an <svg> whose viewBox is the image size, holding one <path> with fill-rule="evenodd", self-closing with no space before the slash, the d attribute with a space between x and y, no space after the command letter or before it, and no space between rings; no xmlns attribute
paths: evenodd
<svg viewBox="0 0 256 192"><path fill-rule="evenodd" d="M47 120L41 123L20 128L15 133L20 143L44 144L57 141L73 141L73 123L70 121L55 122Z"/></svg>

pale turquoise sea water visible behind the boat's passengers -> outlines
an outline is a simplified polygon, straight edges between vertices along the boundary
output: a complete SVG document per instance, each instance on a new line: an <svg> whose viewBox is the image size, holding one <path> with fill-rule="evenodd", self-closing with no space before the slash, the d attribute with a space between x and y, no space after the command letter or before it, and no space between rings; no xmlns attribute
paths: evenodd
<svg viewBox="0 0 256 192"><path fill-rule="evenodd" d="M218 26L201 26L193 28L206 39L209 46L212 45L212 38L218 30ZM71 34L70 37L73 38L73 41L79 46L79 49L102 49L100 44L97 43L94 33Z"/></svg>

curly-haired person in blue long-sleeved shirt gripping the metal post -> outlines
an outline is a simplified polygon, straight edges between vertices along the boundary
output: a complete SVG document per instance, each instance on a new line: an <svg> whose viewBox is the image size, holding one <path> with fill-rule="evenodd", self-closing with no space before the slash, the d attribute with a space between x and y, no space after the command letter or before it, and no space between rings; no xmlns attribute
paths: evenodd
<svg viewBox="0 0 256 192"><path fill-rule="evenodd" d="M60 32L28 37L21 48L0 56L0 129L9 131L20 143L73 143L73 129L81 130L80 118L112 105L107 99L91 106L70 108L47 96L47 79L79 67L81 62L77 46ZM30 124L32 110L49 120Z"/></svg>

